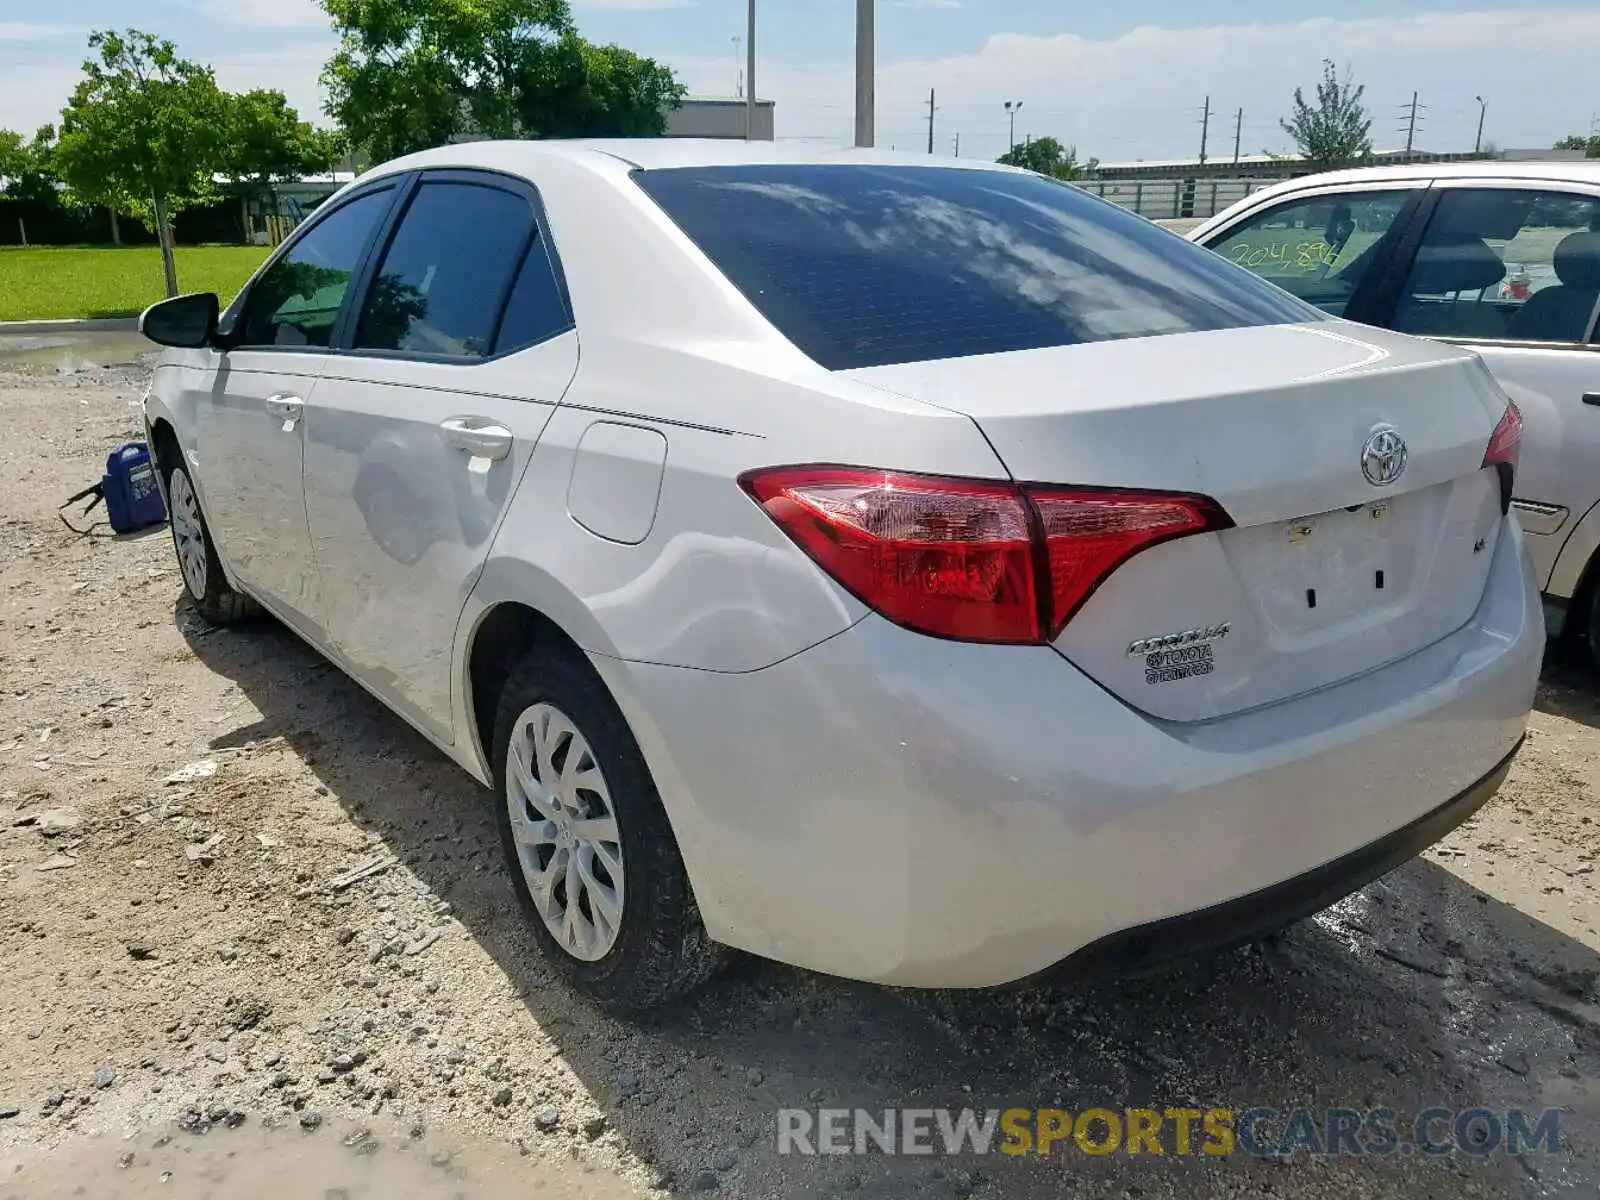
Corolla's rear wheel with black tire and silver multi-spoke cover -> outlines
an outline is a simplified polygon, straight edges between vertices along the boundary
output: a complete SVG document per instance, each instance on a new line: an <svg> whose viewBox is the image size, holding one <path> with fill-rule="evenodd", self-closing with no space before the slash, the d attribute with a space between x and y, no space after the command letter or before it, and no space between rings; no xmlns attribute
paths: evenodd
<svg viewBox="0 0 1600 1200"><path fill-rule="evenodd" d="M638 744L578 653L533 650L512 667L493 763L517 899L578 990L643 1011L683 998L730 960L706 934Z"/></svg>

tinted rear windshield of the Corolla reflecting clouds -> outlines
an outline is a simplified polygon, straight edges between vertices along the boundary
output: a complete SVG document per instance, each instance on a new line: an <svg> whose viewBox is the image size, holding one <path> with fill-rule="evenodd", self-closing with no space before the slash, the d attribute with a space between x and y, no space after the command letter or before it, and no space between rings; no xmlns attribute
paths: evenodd
<svg viewBox="0 0 1600 1200"><path fill-rule="evenodd" d="M634 178L829 370L1325 320L1211 251L1042 176L758 165Z"/></svg>

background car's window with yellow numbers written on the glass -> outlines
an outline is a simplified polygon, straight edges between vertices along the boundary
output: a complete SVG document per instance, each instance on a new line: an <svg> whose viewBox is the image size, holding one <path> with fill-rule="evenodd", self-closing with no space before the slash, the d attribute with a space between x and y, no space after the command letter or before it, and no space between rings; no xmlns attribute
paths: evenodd
<svg viewBox="0 0 1600 1200"><path fill-rule="evenodd" d="M1307 304L1342 317L1374 282L1381 243L1413 192L1347 192L1293 200L1234 226L1210 248Z"/></svg>

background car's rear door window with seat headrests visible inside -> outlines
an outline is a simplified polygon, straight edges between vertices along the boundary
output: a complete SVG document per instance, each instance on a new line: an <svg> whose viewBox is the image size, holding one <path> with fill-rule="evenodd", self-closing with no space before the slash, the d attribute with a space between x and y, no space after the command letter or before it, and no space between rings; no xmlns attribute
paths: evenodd
<svg viewBox="0 0 1600 1200"><path fill-rule="evenodd" d="M1440 192L1394 328L1430 338L1579 342L1600 304L1600 198Z"/></svg>

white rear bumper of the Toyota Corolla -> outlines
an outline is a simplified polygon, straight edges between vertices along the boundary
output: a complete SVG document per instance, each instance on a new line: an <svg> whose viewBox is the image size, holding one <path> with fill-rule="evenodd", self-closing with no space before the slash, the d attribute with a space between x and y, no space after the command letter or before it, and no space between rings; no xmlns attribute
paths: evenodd
<svg viewBox="0 0 1600 1200"><path fill-rule="evenodd" d="M597 667L718 941L906 986L1141 970L1338 899L1493 792L1544 646L1504 528L1456 634L1205 723L1141 715L1045 646L878 618L739 675Z"/></svg>

